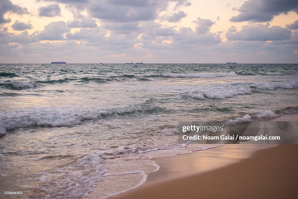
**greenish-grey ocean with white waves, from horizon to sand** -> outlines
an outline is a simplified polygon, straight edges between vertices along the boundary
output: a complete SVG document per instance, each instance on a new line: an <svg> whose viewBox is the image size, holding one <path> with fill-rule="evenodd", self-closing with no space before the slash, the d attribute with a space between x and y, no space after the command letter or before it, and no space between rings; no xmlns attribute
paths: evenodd
<svg viewBox="0 0 298 199"><path fill-rule="evenodd" d="M298 113L298 64L0 64L0 189L99 198L134 189L178 144L179 121Z"/></svg>

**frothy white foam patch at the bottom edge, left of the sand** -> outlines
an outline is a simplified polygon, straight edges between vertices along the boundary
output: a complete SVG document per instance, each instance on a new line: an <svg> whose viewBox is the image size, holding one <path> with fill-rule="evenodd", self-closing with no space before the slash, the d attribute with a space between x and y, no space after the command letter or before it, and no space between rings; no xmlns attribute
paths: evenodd
<svg viewBox="0 0 298 199"><path fill-rule="evenodd" d="M87 154L79 158L77 162L62 168L57 168L53 172L44 172L41 175L42 184L47 189L51 184L55 189L47 189L46 198L78 199L86 197L96 183L103 180L103 173L107 171L102 158L96 154Z"/></svg>

